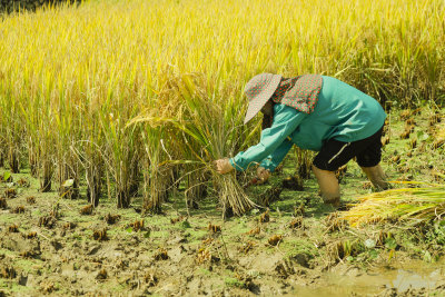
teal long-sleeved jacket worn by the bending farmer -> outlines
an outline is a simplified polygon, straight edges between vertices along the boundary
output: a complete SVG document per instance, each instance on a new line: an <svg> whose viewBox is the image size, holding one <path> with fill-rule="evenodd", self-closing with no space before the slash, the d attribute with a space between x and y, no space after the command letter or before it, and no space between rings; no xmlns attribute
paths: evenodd
<svg viewBox="0 0 445 297"><path fill-rule="evenodd" d="M386 113L370 96L332 77L323 77L318 102L312 113L277 103L274 122L261 131L258 145L240 151L230 164L237 170L260 164L274 171L293 145L319 151L328 139L353 142L377 132Z"/></svg>

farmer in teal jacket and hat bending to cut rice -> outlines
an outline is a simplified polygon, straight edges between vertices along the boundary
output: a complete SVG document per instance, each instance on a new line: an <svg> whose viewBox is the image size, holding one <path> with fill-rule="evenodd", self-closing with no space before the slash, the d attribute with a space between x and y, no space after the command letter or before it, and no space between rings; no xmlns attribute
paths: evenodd
<svg viewBox="0 0 445 297"><path fill-rule="evenodd" d="M261 138L234 158L216 160L219 174L259 164L257 176L263 184L297 145L318 151L312 169L325 204L340 205L335 171L354 157L374 187L387 188L379 165L386 113L374 98L318 75L283 78L261 73L247 82L245 93L249 106L244 122L261 111Z"/></svg>

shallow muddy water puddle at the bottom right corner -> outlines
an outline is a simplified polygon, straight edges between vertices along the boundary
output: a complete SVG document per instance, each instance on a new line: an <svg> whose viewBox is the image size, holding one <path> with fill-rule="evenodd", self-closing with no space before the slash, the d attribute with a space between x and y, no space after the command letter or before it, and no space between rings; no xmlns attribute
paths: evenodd
<svg viewBox="0 0 445 297"><path fill-rule="evenodd" d="M445 261L428 265L412 260L392 268L375 268L367 273L358 268L323 275L317 287L295 286L298 296L424 296L435 291L444 293ZM439 295L442 296L442 295Z"/></svg>

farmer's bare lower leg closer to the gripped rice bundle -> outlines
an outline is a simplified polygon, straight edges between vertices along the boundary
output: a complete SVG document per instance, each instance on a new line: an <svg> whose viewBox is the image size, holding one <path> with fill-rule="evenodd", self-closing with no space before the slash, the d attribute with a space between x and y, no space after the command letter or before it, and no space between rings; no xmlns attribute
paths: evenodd
<svg viewBox="0 0 445 297"><path fill-rule="evenodd" d="M317 178L322 197L325 204L338 207L340 204L340 188L334 171L323 170L313 165L313 171Z"/></svg>

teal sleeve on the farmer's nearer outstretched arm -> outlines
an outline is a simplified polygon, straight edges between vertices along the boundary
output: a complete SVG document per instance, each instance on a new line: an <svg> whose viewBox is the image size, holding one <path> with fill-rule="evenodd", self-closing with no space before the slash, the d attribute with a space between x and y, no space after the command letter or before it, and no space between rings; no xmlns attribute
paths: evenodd
<svg viewBox="0 0 445 297"><path fill-rule="evenodd" d="M246 151L238 152L237 156L230 159L230 164L235 169L239 171L246 170L249 166L254 166L266 159L267 156L273 155L279 147L280 149L271 158L273 160L277 161L279 158L283 160L284 156L289 151L291 145L285 142L288 141L286 138L294 132L307 115L284 105L275 105L274 113L274 122L270 128L261 131L259 143L248 148ZM286 149L287 151L285 152Z"/></svg>

